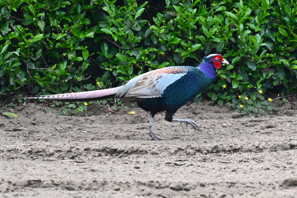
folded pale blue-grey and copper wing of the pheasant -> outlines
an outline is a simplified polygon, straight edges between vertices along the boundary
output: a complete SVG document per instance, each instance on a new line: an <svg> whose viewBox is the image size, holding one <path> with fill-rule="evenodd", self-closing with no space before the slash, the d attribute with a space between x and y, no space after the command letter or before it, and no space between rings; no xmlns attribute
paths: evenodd
<svg viewBox="0 0 297 198"><path fill-rule="evenodd" d="M147 72L133 85L124 97L158 98L168 85L186 75L188 68L173 66Z"/></svg>

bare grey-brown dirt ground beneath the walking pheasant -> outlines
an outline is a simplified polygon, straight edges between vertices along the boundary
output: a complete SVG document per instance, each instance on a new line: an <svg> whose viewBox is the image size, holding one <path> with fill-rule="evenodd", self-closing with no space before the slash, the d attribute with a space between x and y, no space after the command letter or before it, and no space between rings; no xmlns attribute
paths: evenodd
<svg viewBox="0 0 297 198"><path fill-rule="evenodd" d="M155 134L167 141L148 136L140 108L89 109L57 116L38 104L0 108L0 197L297 197L290 105L249 118L192 103L174 117L195 120L201 132L155 116Z"/></svg>

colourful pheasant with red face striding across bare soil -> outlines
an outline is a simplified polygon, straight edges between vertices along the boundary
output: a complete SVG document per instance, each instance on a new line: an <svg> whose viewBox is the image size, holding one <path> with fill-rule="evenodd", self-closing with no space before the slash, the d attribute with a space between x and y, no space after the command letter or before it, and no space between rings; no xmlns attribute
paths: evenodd
<svg viewBox="0 0 297 198"><path fill-rule="evenodd" d="M93 101L106 98L121 98L137 102L138 106L149 111L149 135L154 140L167 140L154 134L154 116L165 111L168 122L184 122L200 131L196 122L191 119L173 118L176 111L190 99L206 90L217 77L216 69L222 64L229 65L220 54L204 57L198 67L171 66L149 71L126 81L122 86L55 95L26 96L27 99L45 99L65 102Z"/></svg>

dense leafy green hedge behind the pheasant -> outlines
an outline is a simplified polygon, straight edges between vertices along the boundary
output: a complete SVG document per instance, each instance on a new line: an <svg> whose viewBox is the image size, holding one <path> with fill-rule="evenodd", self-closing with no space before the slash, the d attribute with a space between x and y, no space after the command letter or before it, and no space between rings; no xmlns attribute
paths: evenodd
<svg viewBox="0 0 297 198"><path fill-rule="evenodd" d="M295 1L141 2L0 1L0 97L114 87L211 53L232 63L208 90L214 101L296 88Z"/></svg>

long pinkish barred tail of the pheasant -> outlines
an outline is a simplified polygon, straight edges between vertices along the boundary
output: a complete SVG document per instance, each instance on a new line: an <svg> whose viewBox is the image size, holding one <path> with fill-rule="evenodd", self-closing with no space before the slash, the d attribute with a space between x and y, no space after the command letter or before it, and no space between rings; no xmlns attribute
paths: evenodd
<svg viewBox="0 0 297 198"><path fill-rule="evenodd" d="M54 95L42 95L42 96L24 96L26 99L45 99L53 101L64 101L64 102L87 102L93 100L102 100L107 98L114 98L117 94L117 88L110 88L105 90L95 90L77 93L63 93Z"/></svg>

